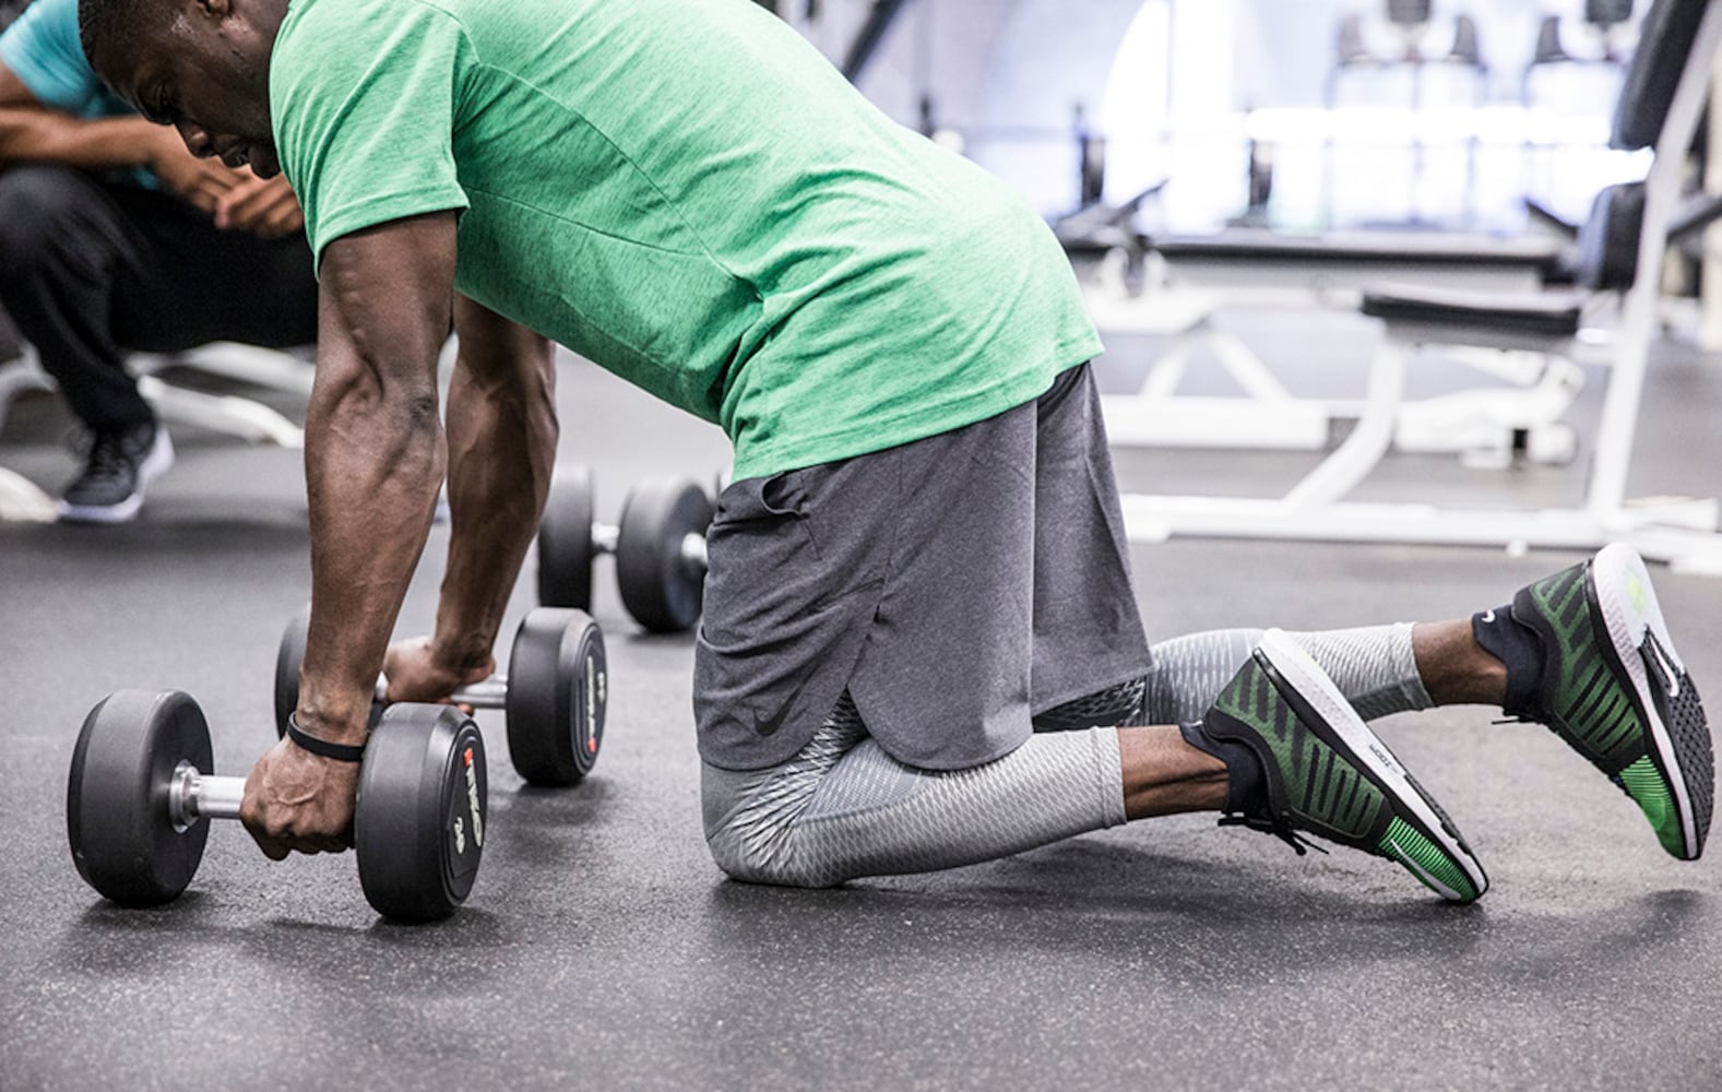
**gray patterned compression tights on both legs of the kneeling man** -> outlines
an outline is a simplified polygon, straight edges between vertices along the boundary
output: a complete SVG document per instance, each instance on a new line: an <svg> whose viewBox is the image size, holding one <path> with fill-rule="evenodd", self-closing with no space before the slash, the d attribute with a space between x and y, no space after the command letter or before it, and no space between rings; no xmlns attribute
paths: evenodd
<svg viewBox="0 0 1722 1092"><path fill-rule="evenodd" d="M1431 704L1410 625L1293 634L1366 718ZM990 861L1124 822L1119 723L1199 720L1261 630L1154 646L1145 679L1037 717L1021 748L971 770L906 766L840 699L813 741L770 770L704 766L706 842L739 880L828 887ZM1099 725L1099 727L1097 727Z"/></svg>

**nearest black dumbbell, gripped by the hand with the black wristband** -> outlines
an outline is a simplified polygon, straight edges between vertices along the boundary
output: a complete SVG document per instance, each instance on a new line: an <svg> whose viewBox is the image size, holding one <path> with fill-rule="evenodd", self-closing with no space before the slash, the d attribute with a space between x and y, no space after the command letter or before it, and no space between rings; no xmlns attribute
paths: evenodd
<svg viewBox="0 0 1722 1092"><path fill-rule="evenodd" d="M239 818L243 777L215 777L208 722L181 691L119 691L90 710L65 785L77 873L121 906L179 897L208 823ZM484 737L446 704L394 704L365 744L353 813L358 882L398 921L449 916L486 835Z"/></svg>

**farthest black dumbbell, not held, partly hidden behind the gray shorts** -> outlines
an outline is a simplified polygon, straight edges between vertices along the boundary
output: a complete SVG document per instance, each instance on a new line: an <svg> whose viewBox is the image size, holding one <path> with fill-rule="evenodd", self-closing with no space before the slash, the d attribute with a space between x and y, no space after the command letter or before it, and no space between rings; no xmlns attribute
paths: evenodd
<svg viewBox="0 0 1722 1092"><path fill-rule="evenodd" d="M591 610L592 560L611 553L635 622L654 634L692 627L706 587L706 491L685 477L654 477L629 491L618 525L592 513L592 472L558 467L539 524L539 603Z"/></svg>

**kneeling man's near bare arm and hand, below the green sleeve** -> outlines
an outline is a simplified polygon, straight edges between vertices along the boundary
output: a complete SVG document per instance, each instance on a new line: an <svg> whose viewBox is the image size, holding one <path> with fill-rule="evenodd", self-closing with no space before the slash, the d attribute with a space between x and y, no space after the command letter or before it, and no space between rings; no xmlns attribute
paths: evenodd
<svg viewBox="0 0 1722 1092"><path fill-rule="evenodd" d="M437 353L455 284L455 215L393 220L322 255L317 384L305 415L312 620L300 729L360 744L389 630L443 482ZM270 858L351 842L358 766L282 739L246 779L239 818Z"/></svg>

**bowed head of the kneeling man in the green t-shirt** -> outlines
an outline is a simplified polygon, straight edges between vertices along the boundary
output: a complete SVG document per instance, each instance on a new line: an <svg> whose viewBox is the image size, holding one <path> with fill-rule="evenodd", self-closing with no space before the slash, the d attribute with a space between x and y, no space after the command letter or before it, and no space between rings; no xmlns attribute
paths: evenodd
<svg viewBox="0 0 1722 1092"><path fill-rule="evenodd" d="M90 64L139 114L179 129L193 155L272 177L281 160L269 121L269 48L232 31L231 21L191 3L103 45Z"/></svg>

